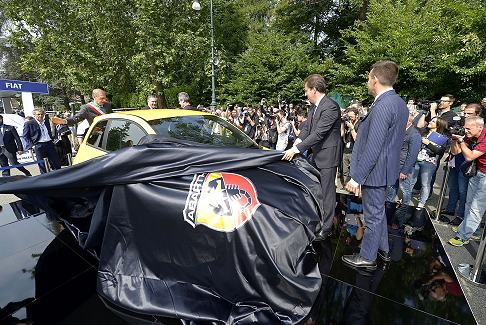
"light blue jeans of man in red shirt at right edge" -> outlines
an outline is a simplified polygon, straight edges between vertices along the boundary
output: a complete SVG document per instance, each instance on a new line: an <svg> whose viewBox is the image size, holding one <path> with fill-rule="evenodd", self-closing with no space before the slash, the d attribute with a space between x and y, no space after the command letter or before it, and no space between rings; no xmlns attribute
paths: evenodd
<svg viewBox="0 0 486 325"><path fill-rule="evenodd" d="M478 230L484 212L486 212L486 174L478 174L469 179L467 187L466 210L464 220L459 225L457 236L462 240L469 239Z"/></svg>

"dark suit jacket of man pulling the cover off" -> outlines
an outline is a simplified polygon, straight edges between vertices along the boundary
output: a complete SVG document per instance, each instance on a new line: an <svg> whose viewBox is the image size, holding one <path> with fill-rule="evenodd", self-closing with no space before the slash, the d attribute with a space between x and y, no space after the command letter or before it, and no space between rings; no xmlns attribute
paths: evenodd
<svg viewBox="0 0 486 325"><path fill-rule="evenodd" d="M315 111L315 113L314 113ZM306 123L303 124L297 145L300 152L312 148L314 161L318 168L331 168L339 165L341 160L341 110L339 105L324 96L319 107L313 106L309 111Z"/></svg>

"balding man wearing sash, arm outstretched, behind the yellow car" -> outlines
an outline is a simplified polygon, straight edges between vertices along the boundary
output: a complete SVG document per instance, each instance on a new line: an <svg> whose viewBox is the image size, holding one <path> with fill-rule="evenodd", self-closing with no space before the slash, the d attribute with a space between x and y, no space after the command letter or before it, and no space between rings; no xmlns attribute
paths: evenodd
<svg viewBox="0 0 486 325"><path fill-rule="evenodd" d="M57 116L52 118L52 123L56 125L73 126L83 120L87 120L91 125L96 116L112 113L111 105L105 105L106 94L102 89L95 89L92 92L93 101L82 105L74 116L63 119Z"/></svg>

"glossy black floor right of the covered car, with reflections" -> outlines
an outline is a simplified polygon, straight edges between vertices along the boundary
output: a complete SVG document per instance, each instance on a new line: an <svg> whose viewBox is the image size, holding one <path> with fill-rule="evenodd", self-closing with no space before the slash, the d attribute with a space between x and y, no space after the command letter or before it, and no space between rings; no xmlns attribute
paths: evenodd
<svg viewBox="0 0 486 325"><path fill-rule="evenodd" d="M476 324L432 224L424 220L421 231L389 226L392 261L368 272L342 262L342 255L359 252L361 221L337 214L335 231L318 247L324 283L305 324Z"/></svg>

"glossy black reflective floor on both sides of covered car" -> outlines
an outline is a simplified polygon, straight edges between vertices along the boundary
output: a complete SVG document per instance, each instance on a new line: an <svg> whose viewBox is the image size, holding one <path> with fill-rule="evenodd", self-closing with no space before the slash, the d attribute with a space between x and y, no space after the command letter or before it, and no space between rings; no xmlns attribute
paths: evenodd
<svg viewBox="0 0 486 325"><path fill-rule="evenodd" d="M389 227L392 261L364 272L341 261L359 251L356 222L338 215L315 244L323 285L304 324L475 324L430 223ZM0 265L0 324L127 324L95 293L96 260L31 206L3 206Z"/></svg>

